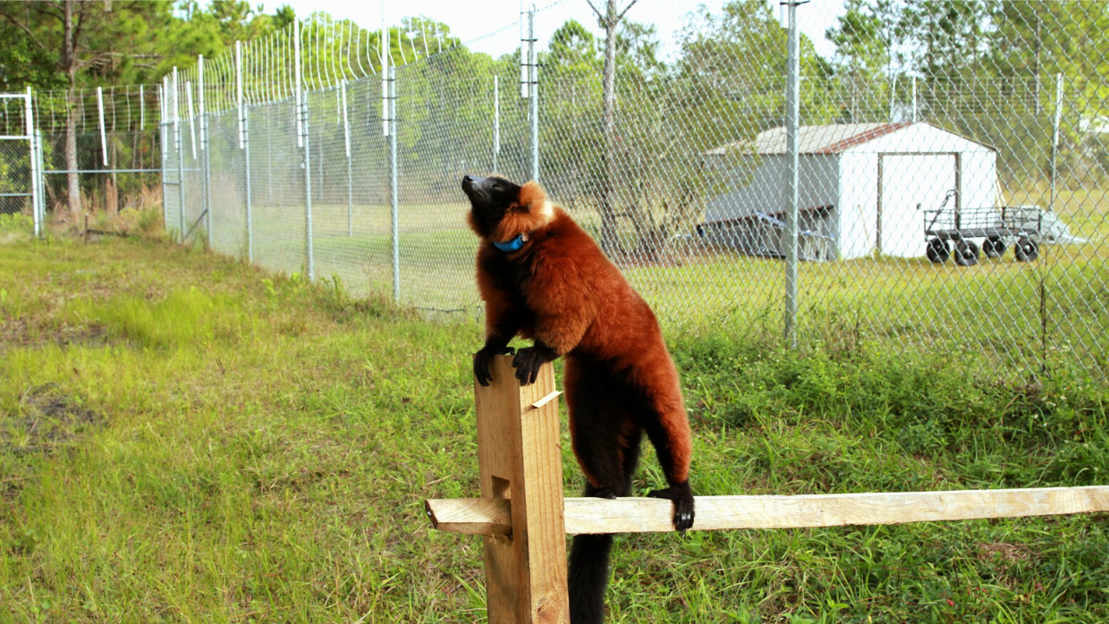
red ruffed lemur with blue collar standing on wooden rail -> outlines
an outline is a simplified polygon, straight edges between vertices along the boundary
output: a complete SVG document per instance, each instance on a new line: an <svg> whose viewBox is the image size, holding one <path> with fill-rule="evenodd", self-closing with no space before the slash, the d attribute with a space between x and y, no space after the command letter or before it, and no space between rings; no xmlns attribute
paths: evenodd
<svg viewBox="0 0 1109 624"><path fill-rule="evenodd" d="M482 386L494 356L512 354L517 335L533 346L515 351L522 383L564 358L570 437L586 473L586 495L631 494L645 432L668 488L648 495L674 503L674 528L693 525L689 472L692 441L678 369L659 321L600 246L535 181L462 177L469 224L481 238L477 282L486 304L486 342L474 356ZM604 618L612 535L577 535L570 550L570 621Z"/></svg>

